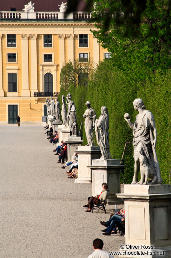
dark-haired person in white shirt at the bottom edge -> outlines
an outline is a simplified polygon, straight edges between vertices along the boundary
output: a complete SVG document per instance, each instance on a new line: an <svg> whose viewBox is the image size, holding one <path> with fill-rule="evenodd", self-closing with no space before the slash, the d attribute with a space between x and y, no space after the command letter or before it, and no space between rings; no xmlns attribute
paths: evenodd
<svg viewBox="0 0 171 258"><path fill-rule="evenodd" d="M89 255L87 258L114 258L109 253L102 250L103 248L103 241L101 239L95 239L93 241L93 254Z"/></svg>

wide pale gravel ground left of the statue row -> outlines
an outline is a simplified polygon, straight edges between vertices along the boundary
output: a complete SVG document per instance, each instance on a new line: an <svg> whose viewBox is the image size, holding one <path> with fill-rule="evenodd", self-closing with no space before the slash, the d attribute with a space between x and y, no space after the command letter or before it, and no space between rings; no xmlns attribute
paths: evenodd
<svg viewBox="0 0 171 258"><path fill-rule="evenodd" d="M125 238L101 232L112 210L85 213L91 184L67 179L44 132L0 125L0 258L87 258L95 238L118 251Z"/></svg>

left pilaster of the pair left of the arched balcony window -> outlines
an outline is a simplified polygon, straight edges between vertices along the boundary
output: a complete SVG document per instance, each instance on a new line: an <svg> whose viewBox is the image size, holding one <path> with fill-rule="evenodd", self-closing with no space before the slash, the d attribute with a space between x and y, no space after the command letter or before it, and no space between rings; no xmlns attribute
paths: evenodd
<svg viewBox="0 0 171 258"><path fill-rule="evenodd" d="M29 91L29 57L28 57L28 34L21 34L22 45L22 97L30 97Z"/></svg>

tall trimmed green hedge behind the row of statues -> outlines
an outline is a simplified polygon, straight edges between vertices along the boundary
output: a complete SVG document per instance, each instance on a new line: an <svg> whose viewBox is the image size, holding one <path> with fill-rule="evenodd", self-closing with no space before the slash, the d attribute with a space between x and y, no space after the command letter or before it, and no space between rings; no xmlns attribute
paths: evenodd
<svg viewBox="0 0 171 258"><path fill-rule="evenodd" d="M135 98L142 98L146 109L152 111L155 117L158 132L158 159L163 182L168 184L171 176L170 88L171 72L167 74L158 72L147 81L133 82L126 74L115 69L109 60L105 60L97 66L87 86L77 87L72 84L68 91L61 87L59 101L61 101L63 94L66 97L68 92L71 93L77 109L78 129L82 122L81 134L84 145L87 144L87 139L82 114L86 109L86 101L90 101L97 118L100 116L101 106L105 105L108 108L111 156L115 159L121 159L124 145L128 142L124 153L125 183L131 183L134 174L133 136L132 130L124 120L124 114L128 112L133 122L137 111L134 110L132 102Z"/></svg>

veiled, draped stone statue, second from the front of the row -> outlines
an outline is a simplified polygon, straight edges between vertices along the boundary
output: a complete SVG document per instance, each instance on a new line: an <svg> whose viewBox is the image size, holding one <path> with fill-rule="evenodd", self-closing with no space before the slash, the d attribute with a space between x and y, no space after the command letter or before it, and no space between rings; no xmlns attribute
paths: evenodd
<svg viewBox="0 0 171 258"><path fill-rule="evenodd" d="M101 115L95 120L95 135L102 153L101 159L112 159L109 147L109 116L107 107L101 107Z"/></svg>

